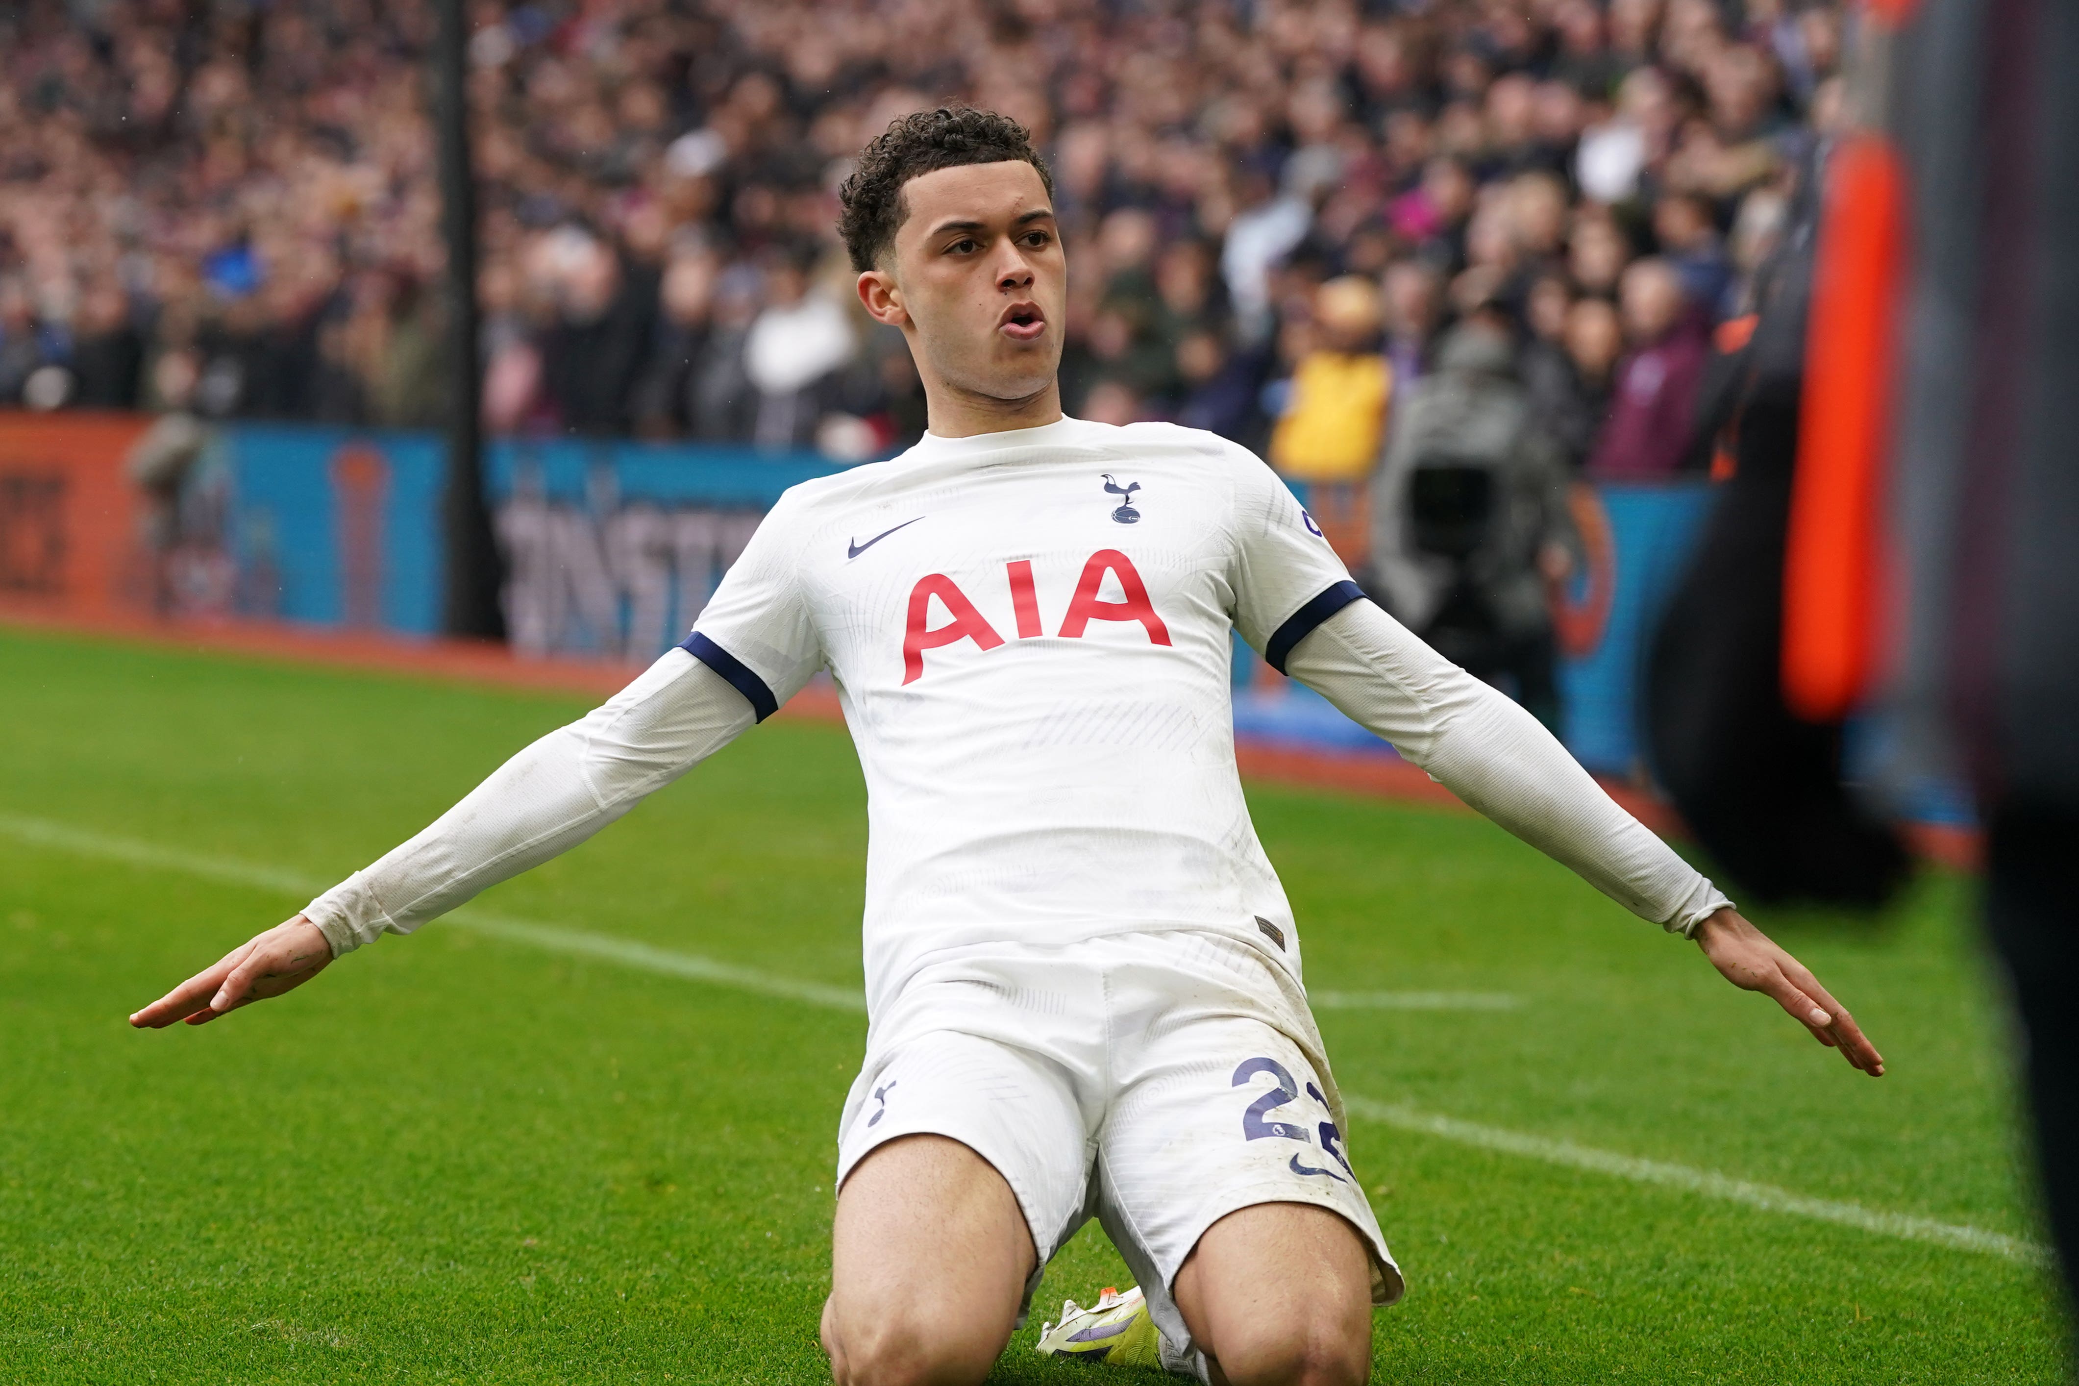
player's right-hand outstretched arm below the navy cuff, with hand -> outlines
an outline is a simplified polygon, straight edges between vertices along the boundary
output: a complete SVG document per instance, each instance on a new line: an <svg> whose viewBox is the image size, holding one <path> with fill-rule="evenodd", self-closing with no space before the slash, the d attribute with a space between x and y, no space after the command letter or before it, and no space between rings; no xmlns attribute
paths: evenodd
<svg viewBox="0 0 2079 1386"><path fill-rule="evenodd" d="M1617 904L1694 939L1728 981L1773 997L1852 1066L1884 1072L1877 1049L1819 979L1611 800L1530 713L1391 615L1349 603L1293 646L1287 673Z"/></svg>

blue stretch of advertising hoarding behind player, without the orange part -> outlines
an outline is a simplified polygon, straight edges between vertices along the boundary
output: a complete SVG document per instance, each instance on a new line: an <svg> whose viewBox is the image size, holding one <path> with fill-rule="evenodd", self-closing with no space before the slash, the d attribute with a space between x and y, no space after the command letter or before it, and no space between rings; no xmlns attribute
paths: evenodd
<svg viewBox="0 0 2079 1386"><path fill-rule="evenodd" d="M815 453L615 438L503 438L484 463L514 646L630 663L684 638L782 490L842 470ZM183 486L189 609L437 634L445 472L435 434L216 428ZM1595 486L1576 503L1590 507L1588 563L1561 603L1561 736L1588 769L1634 775L1647 644L1711 486ZM1239 646L1235 673L1237 731L1391 754Z"/></svg>

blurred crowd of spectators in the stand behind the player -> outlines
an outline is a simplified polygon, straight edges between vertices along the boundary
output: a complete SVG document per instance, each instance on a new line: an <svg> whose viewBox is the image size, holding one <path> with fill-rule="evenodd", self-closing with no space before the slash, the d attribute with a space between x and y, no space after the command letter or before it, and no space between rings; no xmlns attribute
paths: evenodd
<svg viewBox="0 0 2079 1386"><path fill-rule="evenodd" d="M470 25L493 428L917 436L836 187L890 118L967 100L1054 166L1069 411L1260 449L1399 607L1449 580L1368 478L1439 449L1707 463L1711 332L1840 118L1842 15L1809 0L472 0ZM0 10L0 403L437 424L430 42L424 0ZM1516 434L1453 432L1497 401Z"/></svg>

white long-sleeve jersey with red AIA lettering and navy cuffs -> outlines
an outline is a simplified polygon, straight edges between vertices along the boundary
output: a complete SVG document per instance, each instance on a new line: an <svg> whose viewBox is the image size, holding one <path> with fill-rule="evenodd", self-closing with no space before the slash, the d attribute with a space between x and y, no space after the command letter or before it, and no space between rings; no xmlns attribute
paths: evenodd
<svg viewBox="0 0 2079 1386"><path fill-rule="evenodd" d="M948 948L1299 931L1235 771L1231 632L1632 912L1726 898L1364 601L1245 449L1060 420L796 486L684 646L308 908L333 952L563 852L830 669L867 777L869 1006Z"/></svg>

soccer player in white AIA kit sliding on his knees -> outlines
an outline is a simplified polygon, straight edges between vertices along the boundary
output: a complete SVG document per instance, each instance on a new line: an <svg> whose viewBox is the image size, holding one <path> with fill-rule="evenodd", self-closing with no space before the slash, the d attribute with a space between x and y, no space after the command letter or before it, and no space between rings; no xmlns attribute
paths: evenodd
<svg viewBox="0 0 2079 1386"><path fill-rule="evenodd" d="M979 1382L1096 1216L1146 1303L1067 1347L1116 1332L1208 1382L1362 1382L1401 1272L1351 1174L1299 929L1235 773L1239 630L1884 1072L1813 975L1528 713L1366 601L1260 459L1062 416L1069 268L1017 123L904 116L842 204L859 297L909 339L929 434L788 490L680 648L133 1024L202 1024L410 933L830 669L871 827L871 1027L838 1122L821 1324L836 1380Z"/></svg>

